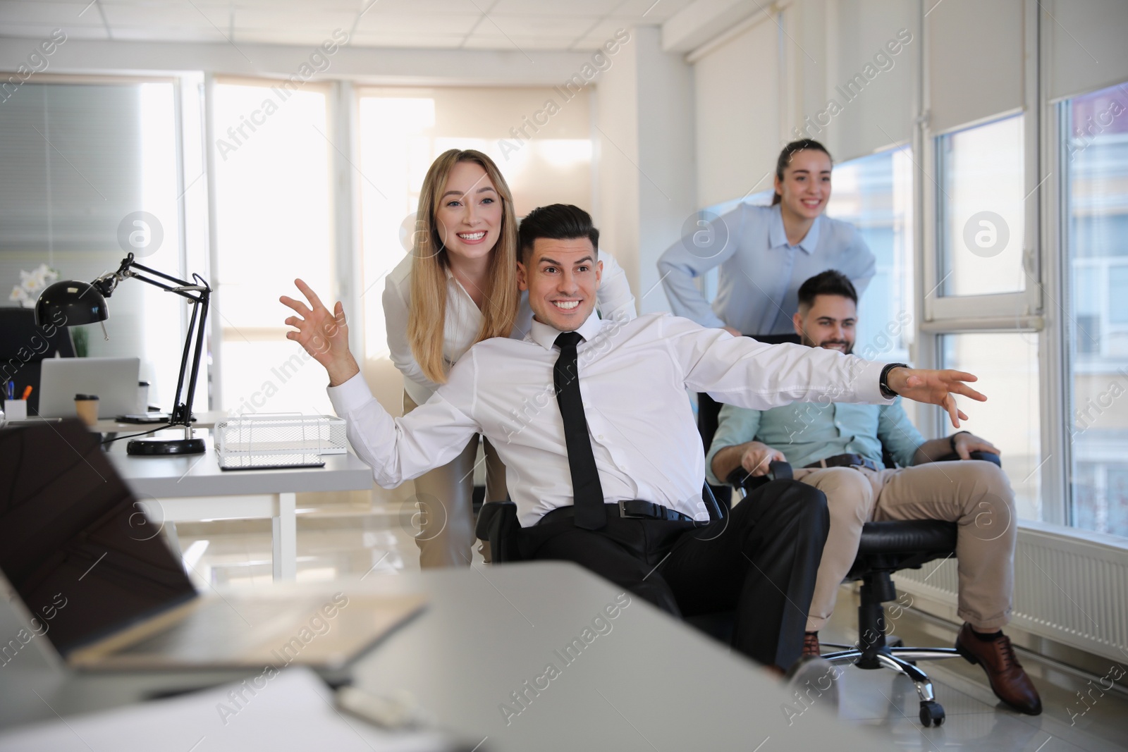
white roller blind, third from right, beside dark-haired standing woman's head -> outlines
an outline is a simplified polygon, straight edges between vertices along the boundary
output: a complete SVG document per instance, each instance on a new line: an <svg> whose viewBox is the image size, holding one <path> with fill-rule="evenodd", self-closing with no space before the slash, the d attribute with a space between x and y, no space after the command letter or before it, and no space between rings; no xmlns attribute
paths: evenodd
<svg viewBox="0 0 1128 752"><path fill-rule="evenodd" d="M828 33L835 37L837 54L828 71L826 104L834 99L841 110L832 117L828 112L821 120L830 123L826 143L831 153L846 161L911 136L915 61L922 41L914 32L913 3L904 0L841 0L836 10L836 28Z"/></svg>

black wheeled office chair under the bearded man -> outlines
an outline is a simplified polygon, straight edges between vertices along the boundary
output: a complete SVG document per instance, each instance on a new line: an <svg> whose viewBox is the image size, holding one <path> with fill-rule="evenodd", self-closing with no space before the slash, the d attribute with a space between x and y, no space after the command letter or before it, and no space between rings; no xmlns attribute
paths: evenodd
<svg viewBox="0 0 1128 752"><path fill-rule="evenodd" d="M937 462L958 460L957 454L948 454ZM972 452L971 459L987 460L999 465L998 454ZM887 467L892 463L887 459ZM791 479L791 466L772 462L766 476L750 477L742 468L734 470L726 480L744 492L759 488L766 483ZM905 520L891 522L866 522L862 525L862 538L857 556L846 582L861 581L861 604L857 609L858 640L854 645L823 643L840 648L825 653L831 663L851 662L858 669L891 669L908 676L916 687L920 699L920 723L940 726L944 723L944 708L936 702L932 680L916 666L916 661L951 658L959 655L954 647L906 647L896 638L885 638L885 609L882 603L897 600L897 589L890 575L899 569L919 569L934 559L955 555L954 522L941 520Z"/></svg>

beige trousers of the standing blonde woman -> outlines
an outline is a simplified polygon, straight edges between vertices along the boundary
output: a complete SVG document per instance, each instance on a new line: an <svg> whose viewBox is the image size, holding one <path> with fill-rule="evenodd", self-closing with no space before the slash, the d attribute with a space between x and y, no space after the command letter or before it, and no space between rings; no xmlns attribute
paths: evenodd
<svg viewBox="0 0 1128 752"><path fill-rule="evenodd" d="M404 415L417 407L404 392ZM485 442L486 501L503 502L505 466L488 439ZM448 465L424 472L415 479L416 510L413 519L420 523L415 543L420 547L420 566L469 566L474 555L474 460L478 454L478 437ZM488 559L488 557L486 557Z"/></svg>

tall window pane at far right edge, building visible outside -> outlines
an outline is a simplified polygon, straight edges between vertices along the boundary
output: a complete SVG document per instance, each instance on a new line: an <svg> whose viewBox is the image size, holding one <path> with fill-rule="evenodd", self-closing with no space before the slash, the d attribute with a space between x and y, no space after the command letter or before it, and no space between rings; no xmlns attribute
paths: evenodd
<svg viewBox="0 0 1128 752"><path fill-rule="evenodd" d="M1128 92L1065 101L1070 524L1128 537Z"/></svg>

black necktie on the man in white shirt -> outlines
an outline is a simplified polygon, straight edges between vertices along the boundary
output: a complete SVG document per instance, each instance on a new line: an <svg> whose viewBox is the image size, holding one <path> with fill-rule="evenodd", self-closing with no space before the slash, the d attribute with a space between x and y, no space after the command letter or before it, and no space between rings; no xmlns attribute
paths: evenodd
<svg viewBox="0 0 1128 752"><path fill-rule="evenodd" d="M603 487L599 485L596 455L591 451L588 435L588 418L583 415L583 398L580 397L580 378L575 346L583 339L578 331L564 331L556 337L561 356L553 368L553 384L556 401L564 418L564 443L567 446L567 463L572 471L572 496L575 504L575 525L587 530L599 530L607 524L603 508Z"/></svg>

